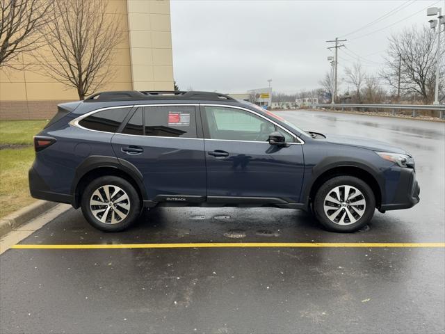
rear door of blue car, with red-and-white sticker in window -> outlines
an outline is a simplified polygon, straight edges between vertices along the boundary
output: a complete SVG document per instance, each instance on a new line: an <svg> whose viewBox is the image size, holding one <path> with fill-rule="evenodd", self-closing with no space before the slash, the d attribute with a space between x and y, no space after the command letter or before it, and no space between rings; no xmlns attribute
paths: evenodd
<svg viewBox="0 0 445 334"><path fill-rule="evenodd" d="M195 107L191 109L190 106L187 109L180 106L147 107L147 113L143 113L147 130L140 127L142 118L136 111L127 124L129 129L113 136L111 142L116 156L129 161L143 174L149 200L168 194L206 195L204 140L181 137L184 134L196 136L195 112ZM145 136L145 131L168 136Z"/></svg>

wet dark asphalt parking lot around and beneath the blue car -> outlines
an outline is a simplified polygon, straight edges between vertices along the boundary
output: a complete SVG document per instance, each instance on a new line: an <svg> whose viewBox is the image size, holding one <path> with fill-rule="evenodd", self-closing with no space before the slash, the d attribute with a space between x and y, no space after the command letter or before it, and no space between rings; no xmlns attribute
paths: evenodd
<svg viewBox="0 0 445 334"><path fill-rule="evenodd" d="M321 230L293 209L167 207L107 234L69 209L19 244L36 246L0 255L0 333L445 333L445 248L422 246L445 241L445 124L277 113L405 148L421 202L375 212L353 234ZM216 244L239 242L264 244ZM150 246L176 243L188 247Z"/></svg>

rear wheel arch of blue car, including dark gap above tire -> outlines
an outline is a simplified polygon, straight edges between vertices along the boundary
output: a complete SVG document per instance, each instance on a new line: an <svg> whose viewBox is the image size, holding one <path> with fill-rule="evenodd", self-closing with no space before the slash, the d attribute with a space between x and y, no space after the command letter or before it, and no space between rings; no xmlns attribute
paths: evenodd
<svg viewBox="0 0 445 334"><path fill-rule="evenodd" d="M81 194L86 185L97 177L112 175L127 180L138 192L140 200L147 200L147 192L143 185L143 175L128 161L116 157L90 156L76 170L72 183L72 206L78 208Z"/></svg>

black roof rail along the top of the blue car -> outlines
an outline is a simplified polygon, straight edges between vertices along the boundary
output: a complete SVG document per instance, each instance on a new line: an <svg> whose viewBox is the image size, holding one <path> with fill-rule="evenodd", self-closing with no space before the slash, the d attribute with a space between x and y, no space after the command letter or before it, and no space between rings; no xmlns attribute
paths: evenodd
<svg viewBox="0 0 445 334"><path fill-rule="evenodd" d="M85 102L136 101L136 100L205 100L205 101L236 101L229 95L215 92L185 92L181 90L122 90L101 92L85 99Z"/></svg>

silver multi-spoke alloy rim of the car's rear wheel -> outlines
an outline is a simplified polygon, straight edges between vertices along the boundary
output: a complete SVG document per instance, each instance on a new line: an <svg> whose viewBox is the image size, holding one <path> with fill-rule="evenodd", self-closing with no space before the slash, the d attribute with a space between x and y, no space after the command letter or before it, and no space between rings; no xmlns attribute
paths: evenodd
<svg viewBox="0 0 445 334"><path fill-rule="evenodd" d="M99 186L91 195L90 210L102 223L120 223L130 212L130 199L119 186Z"/></svg>

